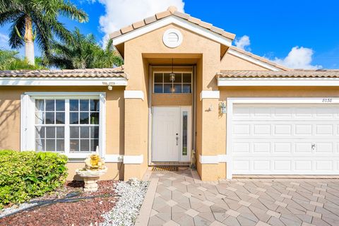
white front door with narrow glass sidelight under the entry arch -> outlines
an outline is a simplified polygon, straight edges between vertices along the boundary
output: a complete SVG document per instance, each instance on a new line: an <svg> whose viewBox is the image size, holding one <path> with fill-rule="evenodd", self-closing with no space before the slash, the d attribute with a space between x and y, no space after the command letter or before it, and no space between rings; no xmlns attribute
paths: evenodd
<svg viewBox="0 0 339 226"><path fill-rule="evenodd" d="M191 107L153 107L153 162L189 162Z"/></svg>

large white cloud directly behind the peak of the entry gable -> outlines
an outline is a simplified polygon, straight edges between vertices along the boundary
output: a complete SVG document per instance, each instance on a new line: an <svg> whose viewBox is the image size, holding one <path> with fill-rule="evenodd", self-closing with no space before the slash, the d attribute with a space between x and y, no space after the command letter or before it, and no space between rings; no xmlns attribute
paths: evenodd
<svg viewBox="0 0 339 226"><path fill-rule="evenodd" d="M93 1L93 0L90 0ZM97 0L105 6L105 15L100 16L99 23L102 32L105 32L103 44L111 32L124 28L131 23L142 20L155 13L167 10L169 6L176 6L178 11L184 12L183 0Z"/></svg>

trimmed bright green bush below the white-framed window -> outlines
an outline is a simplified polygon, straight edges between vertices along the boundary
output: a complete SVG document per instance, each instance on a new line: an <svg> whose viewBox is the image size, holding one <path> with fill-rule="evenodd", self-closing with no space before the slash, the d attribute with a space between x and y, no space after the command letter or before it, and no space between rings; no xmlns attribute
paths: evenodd
<svg viewBox="0 0 339 226"><path fill-rule="evenodd" d="M57 189L66 182L66 163L58 153L0 150L0 209Z"/></svg>

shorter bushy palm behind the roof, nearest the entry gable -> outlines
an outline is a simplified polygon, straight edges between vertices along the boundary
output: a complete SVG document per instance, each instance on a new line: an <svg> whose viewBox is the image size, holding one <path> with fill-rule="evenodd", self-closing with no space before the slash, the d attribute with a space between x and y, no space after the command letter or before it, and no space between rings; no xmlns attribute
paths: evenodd
<svg viewBox="0 0 339 226"><path fill-rule="evenodd" d="M123 64L113 49L112 40L102 49L94 35L83 35L78 28L72 32L71 41L52 42L51 54L45 56L44 61L60 69L112 68Z"/></svg>

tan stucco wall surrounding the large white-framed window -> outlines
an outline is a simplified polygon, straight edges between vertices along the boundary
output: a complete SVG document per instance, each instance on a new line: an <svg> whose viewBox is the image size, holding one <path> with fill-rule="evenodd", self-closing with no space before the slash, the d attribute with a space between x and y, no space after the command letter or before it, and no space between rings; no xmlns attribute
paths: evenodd
<svg viewBox="0 0 339 226"><path fill-rule="evenodd" d="M20 95L24 92L105 92L106 93L106 153L124 155L124 87L1 87L0 90L0 150L20 150ZM117 163L107 163L111 178ZM83 162L68 164L69 177ZM121 171L122 172L122 171Z"/></svg>

